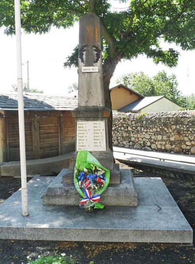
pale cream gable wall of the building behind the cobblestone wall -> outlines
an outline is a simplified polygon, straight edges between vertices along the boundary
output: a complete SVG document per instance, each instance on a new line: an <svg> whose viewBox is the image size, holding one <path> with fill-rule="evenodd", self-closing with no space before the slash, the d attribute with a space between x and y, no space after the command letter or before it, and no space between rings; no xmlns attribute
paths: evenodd
<svg viewBox="0 0 195 264"><path fill-rule="evenodd" d="M152 104L144 107L139 113L156 113L164 111L177 111L180 108L176 103L171 102L166 98L161 98L160 100L153 102Z"/></svg>

